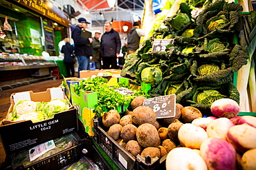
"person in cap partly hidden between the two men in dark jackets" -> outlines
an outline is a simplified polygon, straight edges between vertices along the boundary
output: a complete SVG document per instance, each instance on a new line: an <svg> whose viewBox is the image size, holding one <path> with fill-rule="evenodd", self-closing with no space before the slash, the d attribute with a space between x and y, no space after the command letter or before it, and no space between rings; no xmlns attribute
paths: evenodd
<svg viewBox="0 0 256 170"><path fill-rule="evenodd" d="M100 31L96 31L93 37L93 62L95 64L95 69L101 69L101 59L100 59Z"/></svg>

